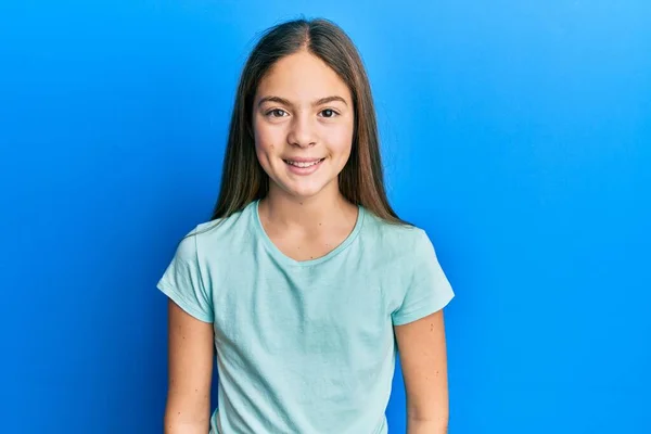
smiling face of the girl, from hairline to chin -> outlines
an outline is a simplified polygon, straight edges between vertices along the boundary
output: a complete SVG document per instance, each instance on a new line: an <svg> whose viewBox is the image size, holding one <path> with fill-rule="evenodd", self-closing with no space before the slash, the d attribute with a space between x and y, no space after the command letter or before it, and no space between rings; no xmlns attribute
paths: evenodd
<svg viewBox="0 0 651 434"><path fill-rule="evenodd" d="M323 61L307 51L278 61L258 85L253 129L270 194L339 194L354 110L348 87Z"/></svg>

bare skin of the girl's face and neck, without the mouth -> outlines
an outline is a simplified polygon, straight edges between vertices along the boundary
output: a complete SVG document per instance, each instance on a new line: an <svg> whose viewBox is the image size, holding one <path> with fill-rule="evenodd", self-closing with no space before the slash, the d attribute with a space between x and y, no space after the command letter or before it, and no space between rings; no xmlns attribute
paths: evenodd
<svg viewBox="0 0 651 434"><path fill-rule="evenodd" d="M348 87L305 51L280 60L258 86L256 153L271 180L259 215L267 235L293 259L326 255L355 226L357 206L342 196L337 180L350 155L354 120ZM292 158L324 161L303 176L291 171L285 159Z"/></svg>

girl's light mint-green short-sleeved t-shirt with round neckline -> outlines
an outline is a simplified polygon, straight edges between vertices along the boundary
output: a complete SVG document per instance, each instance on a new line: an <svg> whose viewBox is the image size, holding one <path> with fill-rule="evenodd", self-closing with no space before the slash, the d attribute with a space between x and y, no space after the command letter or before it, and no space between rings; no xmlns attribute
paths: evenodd
<svg viewBox="0 0 651 434"><path fill-rule="evenodd" d="M157 284L214 324L210 433L386 433L393 327L454 297L433 244L360 206L342 244L297 261L267 237L257 205L194 228Z"/></svg>

